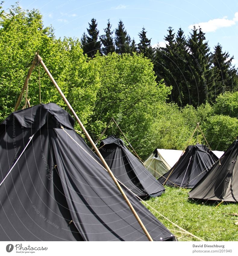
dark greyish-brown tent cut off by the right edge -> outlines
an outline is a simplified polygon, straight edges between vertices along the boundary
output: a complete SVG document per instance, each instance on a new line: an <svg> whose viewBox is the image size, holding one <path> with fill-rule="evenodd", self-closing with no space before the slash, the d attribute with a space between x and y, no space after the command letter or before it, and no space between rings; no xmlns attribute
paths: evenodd
<svg viewBox="0 0 238 256"><path fill-rule="evenodd" d="M238 141L233 141L207 175L189 192L189 198L238 202Z"/></svg>

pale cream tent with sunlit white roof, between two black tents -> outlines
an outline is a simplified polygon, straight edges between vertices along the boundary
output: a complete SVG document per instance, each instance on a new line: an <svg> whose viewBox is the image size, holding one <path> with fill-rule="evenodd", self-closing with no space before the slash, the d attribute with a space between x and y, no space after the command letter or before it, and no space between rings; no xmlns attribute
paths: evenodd
<svg viewBox="0 0 238 256"><path fill-rule="evenodd" d="M175 165L182 154L183 150L156 148L146 159L144 166L158 179Z"/></svg>

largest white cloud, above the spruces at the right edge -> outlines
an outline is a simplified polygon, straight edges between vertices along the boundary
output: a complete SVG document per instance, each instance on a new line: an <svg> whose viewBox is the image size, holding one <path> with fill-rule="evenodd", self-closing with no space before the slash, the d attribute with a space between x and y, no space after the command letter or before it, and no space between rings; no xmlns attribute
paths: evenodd
<svg viewBox="0 0 238 256"><path fill-rule="evenodd" d="M189 29L193 29L195 26L197 29L201 27L202 32L215 32L217 29L221 27L231 27L236 24L238 21L238 12L235 13L234 18L232 20L227 19L227 16L222 19L213 19L207 22L200 22L197 24L193 24L189 26Z"/></svg>

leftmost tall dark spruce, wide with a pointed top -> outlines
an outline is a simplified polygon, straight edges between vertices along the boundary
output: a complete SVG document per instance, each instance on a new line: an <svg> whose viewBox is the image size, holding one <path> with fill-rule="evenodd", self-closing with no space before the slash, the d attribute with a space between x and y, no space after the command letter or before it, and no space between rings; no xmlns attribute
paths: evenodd
<svg viewBox="0 0 238 256"><path fill-rule="evenodd" d="M97 23L94 18L89 23L89 28L87 28L88 36L85 33L81 38L81 43L83 45L83 53L86 53L90 58L94 58L97 51L101 53L101 42L98 41L99 30L97 29ZM85 42L86 41L86 42Z"/></svg>

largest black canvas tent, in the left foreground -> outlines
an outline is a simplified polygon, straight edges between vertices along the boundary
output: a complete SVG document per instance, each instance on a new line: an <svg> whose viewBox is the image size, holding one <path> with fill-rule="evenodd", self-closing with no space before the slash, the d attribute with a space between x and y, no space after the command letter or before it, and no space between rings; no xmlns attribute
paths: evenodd
<svg viewBox="0 0 238 256"><path fill-rule="evenodd" d="M0 125L0 240L148 241L73 126L54 103L14 112ZM174 240L126 194L155 241Z"/></svg>

